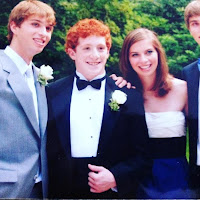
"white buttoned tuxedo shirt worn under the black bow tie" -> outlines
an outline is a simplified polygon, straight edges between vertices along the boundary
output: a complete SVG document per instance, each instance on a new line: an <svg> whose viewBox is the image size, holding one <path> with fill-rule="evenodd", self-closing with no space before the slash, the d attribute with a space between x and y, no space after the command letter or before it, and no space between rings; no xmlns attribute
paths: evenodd
<svg viewBox="0 0 200 200"><path fill-rule="evenodd" d="M86 78L76 72L80 79ZM95 77L99 79L105 76ZM70 139L72 157L96 157L101 124L104 112L105 101L105 83L104 79L100 90L87 86L83 90L78 90L76 86L76 77L74 78L73 91L70 107Z"/></svg>

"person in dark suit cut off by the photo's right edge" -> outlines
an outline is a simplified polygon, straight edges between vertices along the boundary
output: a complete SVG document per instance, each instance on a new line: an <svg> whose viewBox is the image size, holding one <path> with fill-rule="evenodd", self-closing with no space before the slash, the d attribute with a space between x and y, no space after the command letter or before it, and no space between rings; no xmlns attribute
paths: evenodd
<svg viewBox="0 0 200 200"><path fill-rule="evenodd" d="M184 15L190 34L200 44L200 0L191 1ZM196 192L196 198L200 198L199 71L199 59L183 68L183 79L188 87L190 187Z"/></svg>

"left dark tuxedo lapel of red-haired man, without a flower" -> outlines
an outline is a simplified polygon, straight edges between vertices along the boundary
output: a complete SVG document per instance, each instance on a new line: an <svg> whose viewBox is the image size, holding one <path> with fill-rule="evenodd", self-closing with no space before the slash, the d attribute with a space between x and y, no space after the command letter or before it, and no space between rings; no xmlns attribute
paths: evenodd
<svg viewBox="0 0 200 200"><path fill-rule="evenodd" d="M70 143L70 104L72 96L74 76L66 79L59 92L52 100L52 109L56 119L56 126L59 133L60 142L68 157L71 156Z"/></svg>

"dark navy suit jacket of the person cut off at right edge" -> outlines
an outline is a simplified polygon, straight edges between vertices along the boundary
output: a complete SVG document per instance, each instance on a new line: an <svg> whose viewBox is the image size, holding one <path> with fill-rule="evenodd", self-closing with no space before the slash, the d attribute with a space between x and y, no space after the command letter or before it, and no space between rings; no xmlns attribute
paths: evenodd
<svg viewBox="0 0 200 200"><path fill-rule="evenodd" d="M189 126L189 151L190 151L190 182L196 184L200 176L197 170L197 139L198 139L198 92L199 92L199 70L198 61L183 68L183 79L187 81L188 87L188 126ZM198 178L198 182L200 178ZM198 186L199 187L199 186Z"/></svg>

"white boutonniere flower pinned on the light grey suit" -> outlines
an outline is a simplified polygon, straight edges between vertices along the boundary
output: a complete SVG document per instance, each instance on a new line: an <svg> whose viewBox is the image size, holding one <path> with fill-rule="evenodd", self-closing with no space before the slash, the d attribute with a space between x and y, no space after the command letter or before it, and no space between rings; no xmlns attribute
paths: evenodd
<svg viewBox="0 0 200 200"><path fill-rule="evenodd" d="M49 65L42 65L38 74L38 82L40 82L41 85L47 85L47 81L53 79L52 74L53 69Z"/></svg>

